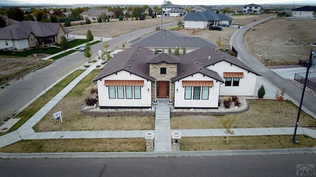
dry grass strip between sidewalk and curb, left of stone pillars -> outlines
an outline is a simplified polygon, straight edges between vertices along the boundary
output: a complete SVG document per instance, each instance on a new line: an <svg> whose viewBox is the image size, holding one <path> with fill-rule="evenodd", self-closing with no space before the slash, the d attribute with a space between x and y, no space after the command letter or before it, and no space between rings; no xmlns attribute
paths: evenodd
<svg viewBox="0 0 316 177"><path fill-rule="evenodd" d="M5 153L145 151L144 138L22 140L0 148Z"/></svg>

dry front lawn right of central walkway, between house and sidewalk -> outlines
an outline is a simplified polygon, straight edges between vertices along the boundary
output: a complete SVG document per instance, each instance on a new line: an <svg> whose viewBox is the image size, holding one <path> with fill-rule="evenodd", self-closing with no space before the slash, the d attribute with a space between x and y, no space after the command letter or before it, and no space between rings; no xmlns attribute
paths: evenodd
<svg viewBox="0 0 316 177"><path fill-rule="evenodd" d="M277 113L276 100L248 100L248 103L249 110L237 114L232 128L295 126L298 107L290 101L281 103L280 113ZM223 128L221 117L225 116L173 116L171 129ZM316 119L302 111L299 126L316 126Z"/></svg>

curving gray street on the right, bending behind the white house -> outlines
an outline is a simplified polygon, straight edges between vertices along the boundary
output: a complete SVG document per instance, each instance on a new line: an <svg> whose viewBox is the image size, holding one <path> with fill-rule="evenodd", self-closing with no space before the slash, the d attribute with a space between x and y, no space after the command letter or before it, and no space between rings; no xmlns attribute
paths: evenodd
<svg viewBox="0 0 316 177"><path fill-rule="evenodd" d="M242 45L243 44L243 34L252 26L262 23L263 21L267 21L275 16L271 16L262 20L258 20L254 23L248 24L239 30L237 30L232 37L233 47L238 52L238 58L245 62L248 66L250 66L254 71L260 74L267 81L272 83L276 88L282 89L285 88L285 93L292 98L296 105L299 105L302 95L302 89L297 86L291 84L286 79L282 78L271 69L264 66L258 59L254 58ZM308 92L305 92L303 107L310 110L312 113L316 114L316 98L310 95ZM294 125L293 125L294 126Z"/></svg>

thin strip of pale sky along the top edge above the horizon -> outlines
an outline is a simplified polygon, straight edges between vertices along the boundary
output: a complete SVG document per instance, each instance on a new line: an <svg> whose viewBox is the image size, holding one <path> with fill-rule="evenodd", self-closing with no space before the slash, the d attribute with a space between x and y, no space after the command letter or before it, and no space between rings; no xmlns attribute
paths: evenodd
<svg viewBox="0 0 316 177"><path fill-rule="evenodd" d="M0 0L1 3L2 0ZM24 1L34 4L143 4L160 5L163 0L10 0ZM246 5L246 4L273 4L273 3L300 3L303 0L169 0L177 5ZM304 0L304 3L316 3L315 0Z"/></svg>

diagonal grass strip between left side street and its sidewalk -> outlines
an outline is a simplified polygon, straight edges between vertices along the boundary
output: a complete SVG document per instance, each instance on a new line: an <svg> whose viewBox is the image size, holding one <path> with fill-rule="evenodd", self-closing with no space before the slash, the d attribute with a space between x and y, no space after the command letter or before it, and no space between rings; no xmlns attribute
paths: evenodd
<svg viewBox="0 0 316 177"><path fill-rule="evenodd" d="M29 118L31 118L35 113L37 113L40 108L42 108L49 100L51 100L55 95L57 95L62 89L64 89L70 82L77 78L83 70L77 70L63 79L61 82L56 84L51 89L47 90L46 93L41 95L36 101L30 104L27 108L21 111L15 118L21 118L15 125L13 125L8 131L0 133L0 136L18 129L23 125Z"/></svg>

